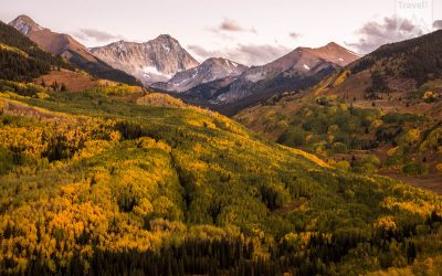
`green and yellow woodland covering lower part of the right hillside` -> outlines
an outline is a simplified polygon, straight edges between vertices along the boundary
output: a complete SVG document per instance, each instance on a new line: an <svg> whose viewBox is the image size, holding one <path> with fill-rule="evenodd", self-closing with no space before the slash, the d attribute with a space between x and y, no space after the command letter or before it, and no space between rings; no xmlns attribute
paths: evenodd
<svg viewBox="0 0 442 276"><path fill-rule="evenodd" d="M303 106L293 117L274 119L288 121L277 141L320 155L354 172L394 169L420 176L442 169L439 121L325 99L320 103ZM269 125L272 127L277 126Z"/></svg>

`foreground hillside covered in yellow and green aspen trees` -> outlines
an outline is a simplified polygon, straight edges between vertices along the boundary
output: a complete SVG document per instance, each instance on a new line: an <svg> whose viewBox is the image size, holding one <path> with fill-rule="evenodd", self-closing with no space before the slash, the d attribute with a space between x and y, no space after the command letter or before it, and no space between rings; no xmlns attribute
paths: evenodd
<svg viewBox="0 0 442 276"><path fill-rule="evenodd" d="M2 273L441 272L433 193L165 95L46 95L0 94Z"/></svg>

